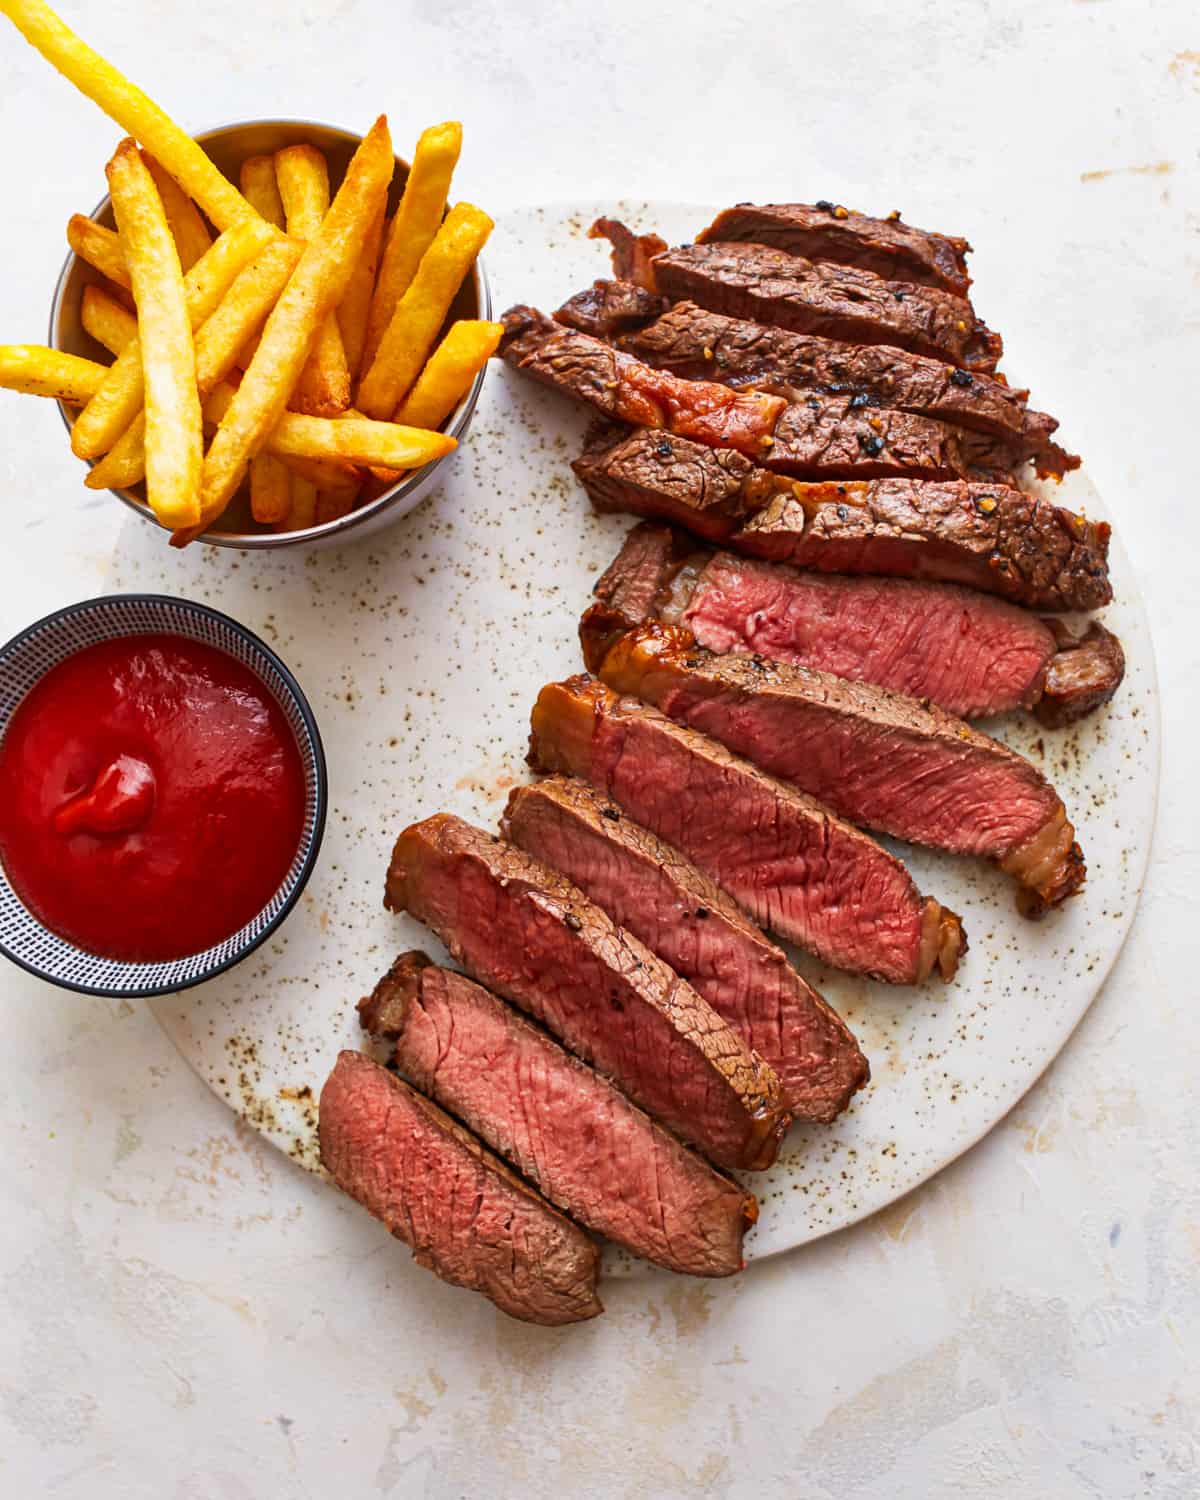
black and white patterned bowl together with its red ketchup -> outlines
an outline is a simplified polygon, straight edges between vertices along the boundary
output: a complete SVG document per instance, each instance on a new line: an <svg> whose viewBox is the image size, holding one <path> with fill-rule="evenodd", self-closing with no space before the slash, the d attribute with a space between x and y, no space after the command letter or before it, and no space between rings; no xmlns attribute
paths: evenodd
<svg viewBox="0 0 1200 1500"><path fill-rule="evenodd" d="M206 604L114 594L0 648L0 952L152 996L252 952L308 882L326 760L279 657Z"/></svg>

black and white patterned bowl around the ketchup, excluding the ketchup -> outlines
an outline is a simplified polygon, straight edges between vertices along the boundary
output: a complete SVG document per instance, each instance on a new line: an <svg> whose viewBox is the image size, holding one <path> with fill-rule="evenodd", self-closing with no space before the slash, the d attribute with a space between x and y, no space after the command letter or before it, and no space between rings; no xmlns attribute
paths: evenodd
<svg viewBox="0 0 1200 1500"><path fill-rule="evenodd" d="M0 741L16 705L45 674L98 640L135 634L176 634L202 640L248 666L284 711L304 771L304 826L284 884L224 942L186 958L128 963L84 952L44 927L16 898L0 866L0 952L22 969L66 990L123 999L170 994L212 980L264 942L284 921L308 884L326 830L326 754L316 720L300 684L279 657L236 620L207 604L166 594L112 594L69 604L22 630L0 648Z"/></svg>

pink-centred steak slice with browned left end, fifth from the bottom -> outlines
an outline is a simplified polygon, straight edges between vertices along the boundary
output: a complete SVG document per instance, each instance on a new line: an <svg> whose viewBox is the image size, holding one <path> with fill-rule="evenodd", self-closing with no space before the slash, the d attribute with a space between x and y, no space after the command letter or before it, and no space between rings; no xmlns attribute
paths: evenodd
<svg viewBox="0 0 1200 1500"><path fill-rule="evenodd" d="M550 682L532 711L530 762L578 776L682 850L780 938L892 984L966 946L954 912L904 866L826 807L603 682Z"/></svg>

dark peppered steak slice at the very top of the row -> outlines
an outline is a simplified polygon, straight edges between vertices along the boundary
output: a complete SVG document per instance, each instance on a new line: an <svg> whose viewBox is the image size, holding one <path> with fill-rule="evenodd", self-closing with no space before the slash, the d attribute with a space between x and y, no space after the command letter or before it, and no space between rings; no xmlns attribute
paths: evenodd
<svg viewBox="0 0 1200 1500"><path fill-rule="evenodd" d="M916 230L898 213L872 219L831 202L740 202L718 213L696 238L770 244L810 261L836 261L891 280L940 286L957 297L966 297L970 286L968 242Z"/></svg>

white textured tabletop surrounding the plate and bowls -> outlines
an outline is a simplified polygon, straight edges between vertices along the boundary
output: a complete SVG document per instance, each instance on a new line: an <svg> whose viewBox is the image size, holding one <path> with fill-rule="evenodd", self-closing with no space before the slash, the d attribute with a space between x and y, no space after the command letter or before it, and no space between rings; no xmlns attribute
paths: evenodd
<svg viewBox="0 0 1200 1500"><path fill-rule="evenodd" d="M969 234L1140 570L1166 762L1134 936L1005 1125L860 1228L558 1334L412 1268L142 1010L6 968L0 1494L1200 1496L1194 0L64 12L196 129L387 110L404 148L459 116L484 206L830 196ZM38 340L116 132L8 30L0 78L0 338ZM0 398L0 486L6 636L99 591L122 520L48 405Z"/></svg>

